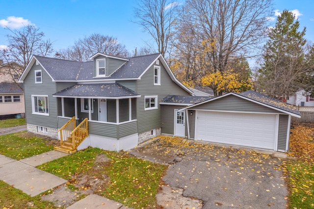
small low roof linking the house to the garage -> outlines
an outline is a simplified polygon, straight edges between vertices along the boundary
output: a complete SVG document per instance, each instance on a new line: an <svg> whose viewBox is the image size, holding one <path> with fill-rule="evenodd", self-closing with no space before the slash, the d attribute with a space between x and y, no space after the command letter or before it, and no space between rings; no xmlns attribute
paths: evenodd
<svg viewBox="0 0 314 209"><path fill-rule="evenodd" d="M168 95L159 104L190 105L206 100L209 100L209 97Z"/></svg>

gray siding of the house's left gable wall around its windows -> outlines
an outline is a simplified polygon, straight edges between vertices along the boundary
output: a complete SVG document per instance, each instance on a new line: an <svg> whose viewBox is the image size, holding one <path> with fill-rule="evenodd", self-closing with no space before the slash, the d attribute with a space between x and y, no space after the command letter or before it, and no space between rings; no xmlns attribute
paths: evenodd
<svg viewBox="0 0 314 209"><path fill-rule="evenodd" d="M42 70L42 83L35 83L35 70ZM26 123L57 129L57 102L52 97L56 91L55 82L41 67L34 64L24 80ZM48 95L49 116L32 114L31 95Z"/></svg>

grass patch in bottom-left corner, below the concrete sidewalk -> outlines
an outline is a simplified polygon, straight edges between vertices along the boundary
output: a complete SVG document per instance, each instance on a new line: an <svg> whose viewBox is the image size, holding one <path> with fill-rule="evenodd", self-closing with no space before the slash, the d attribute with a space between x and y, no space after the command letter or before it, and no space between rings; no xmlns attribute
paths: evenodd
<svg viewBox="0 0 314 209"><path fill-rule="evenodd" d="M42 201L40 196L30 197L19 189L0 181L0 208L1 209L55 209L51 202Z"/></svg>

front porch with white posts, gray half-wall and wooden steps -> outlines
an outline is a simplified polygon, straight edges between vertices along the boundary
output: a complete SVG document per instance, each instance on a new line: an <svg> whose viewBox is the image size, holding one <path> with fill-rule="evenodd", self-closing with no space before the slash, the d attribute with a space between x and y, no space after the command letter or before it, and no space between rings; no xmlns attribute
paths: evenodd
<svg viewBox="0 0 314 209"><path fill-rule="evenodd" d="M103 88L98 86L100 84L95 85ZM109 87L112 87L112 84ZM116 93L115 89L111 91ZM94 91L88 94L85 92L86 95L82 93L83 90L78 92L69 94L68 88L53 95L57 97L60 147L67 149L66 152L76 152L88 146L115 151L126 150L130 143L124 142L126 146L123 146L118 141L123 141L126 137L131 137L133 147L137 145L136 98L140 95L134 92L121 95L121 92L118 92L118 95L110 97L106 96L106 91L102 92L102 95ZM80 128L76 127L77 124ZM79 133L74 134L75 129Z"/></svg>

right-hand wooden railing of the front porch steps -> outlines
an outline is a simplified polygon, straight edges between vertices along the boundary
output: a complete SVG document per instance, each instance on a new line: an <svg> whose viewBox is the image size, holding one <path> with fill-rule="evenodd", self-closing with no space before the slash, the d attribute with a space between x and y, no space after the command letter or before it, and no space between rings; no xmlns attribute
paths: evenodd
<svg viewBox="0 0 314 209"><path fill-rule="evenodd" d="M88 118L85 118L73 131L70 133L72 138L72 146L74 149L88 136ZM70 138L68 138L70 139Z"/></svg>

